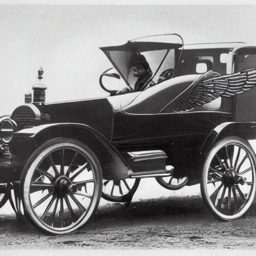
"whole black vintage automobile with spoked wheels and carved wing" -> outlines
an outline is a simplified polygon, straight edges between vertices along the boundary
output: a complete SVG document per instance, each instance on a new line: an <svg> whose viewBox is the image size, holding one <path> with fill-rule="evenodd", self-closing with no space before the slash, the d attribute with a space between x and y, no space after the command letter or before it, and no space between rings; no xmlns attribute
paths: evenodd
<svg viewBox="0 0 256 256"><path fill-rule="evenodd" d="M91 219L101 195L129 202L141 178L155 177L167 189L200 183L218 219L244 215L256 189L256 46L165 34L100 49L116 70L99 77L109 96L45 103L38 83L32 101L1 117L1 204L8 195L19 214L21 200L38 229L65 234ZM141 54L151 75L135 90Z"/></svg>

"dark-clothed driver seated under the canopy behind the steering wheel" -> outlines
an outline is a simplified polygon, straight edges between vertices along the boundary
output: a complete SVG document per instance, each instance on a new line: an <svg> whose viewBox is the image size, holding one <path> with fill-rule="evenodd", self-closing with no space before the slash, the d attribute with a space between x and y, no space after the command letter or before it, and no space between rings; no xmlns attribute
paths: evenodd
<svg viewBox="0 0 256 256"><path fill-rule="evenodd" d="M148 62L146 61L146 58L142 55L139 54L137 56L137 63L136 63L136 69L133 69L133 75L135 77L138 77L135 84L134 84L134 90L133 91L141 91L144 90L147 87L150 87L151 85L147 85L151 76L152 76L152 71L149 67ZM154 84L152 84L154 85ZM119 94L125 94L132 92L130 88L124 87L121 90L118 90L116 92L116 95Z"/></svg>

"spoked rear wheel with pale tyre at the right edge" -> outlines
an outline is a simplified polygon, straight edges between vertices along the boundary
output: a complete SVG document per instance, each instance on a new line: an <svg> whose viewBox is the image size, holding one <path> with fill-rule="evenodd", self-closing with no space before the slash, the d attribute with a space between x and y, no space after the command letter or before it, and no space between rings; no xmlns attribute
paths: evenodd
<svg viewBox="0 0 256 256"><path fill-rule="evenodd" d="M252 204L255 154L250 144L237 136L218 141L208 152L201 174L202 199L220 220L241 217Z"/></svg>

